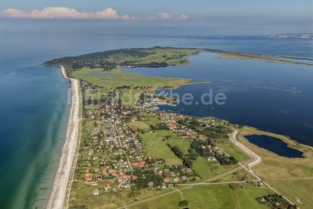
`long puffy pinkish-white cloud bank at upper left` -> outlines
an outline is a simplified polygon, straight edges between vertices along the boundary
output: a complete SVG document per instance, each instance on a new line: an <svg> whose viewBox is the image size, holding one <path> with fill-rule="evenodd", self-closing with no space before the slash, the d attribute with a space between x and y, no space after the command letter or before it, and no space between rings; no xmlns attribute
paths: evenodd
<svg viewBox="0 0 313 209"><path fill-rule="evenodd" d="M73 8L67 7L46 7L41 11L37 9L26 12L17 9L6 9L0 11L0 16L11 17L11 18L37 18L37 19L124 19L133 20L135 17L129 17L127 14L120 17L117 12L108 7L105 10L97 12L78 12Z"/></svg>

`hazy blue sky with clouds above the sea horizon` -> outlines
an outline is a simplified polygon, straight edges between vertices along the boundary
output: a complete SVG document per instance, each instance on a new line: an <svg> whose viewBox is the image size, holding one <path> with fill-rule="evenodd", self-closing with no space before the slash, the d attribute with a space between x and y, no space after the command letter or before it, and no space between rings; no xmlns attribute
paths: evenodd
<svg viewBox="0 0 313 209"><path fill-rule="evenodd" d="M309 33L313 32L313 1L1 0L0 30L48 30L52 26L76 30L78 24L184 26L194 27L202 34L210 28L225 35Z"/></svg>

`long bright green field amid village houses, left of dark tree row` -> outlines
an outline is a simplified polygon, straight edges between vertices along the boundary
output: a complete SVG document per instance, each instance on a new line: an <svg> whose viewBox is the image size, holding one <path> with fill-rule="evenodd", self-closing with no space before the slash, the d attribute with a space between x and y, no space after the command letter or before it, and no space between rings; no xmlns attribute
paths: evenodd
<svg viewBox="0 0 313 209"><path fill-rule="evenodd" d="M147 153L153 158L162 158L167 165L182 165L182 160L172 152L160 137L156 137L155 133L140 134L140 137L143 139Z"/></svg>

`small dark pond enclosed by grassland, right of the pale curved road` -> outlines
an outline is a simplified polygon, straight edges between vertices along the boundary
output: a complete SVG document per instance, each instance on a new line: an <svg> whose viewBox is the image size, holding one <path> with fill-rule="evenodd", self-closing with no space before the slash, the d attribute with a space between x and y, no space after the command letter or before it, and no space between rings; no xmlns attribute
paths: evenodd
<svg viewBox="0 0 313 209"><path fill-rule="evenodd" d="M263 147L273 153L288 158L302 158L302 152L287 147L287 144L275 137L269 137L266 135L250 135L245 136L249 142L254 143L259 147Z"/></svg>

